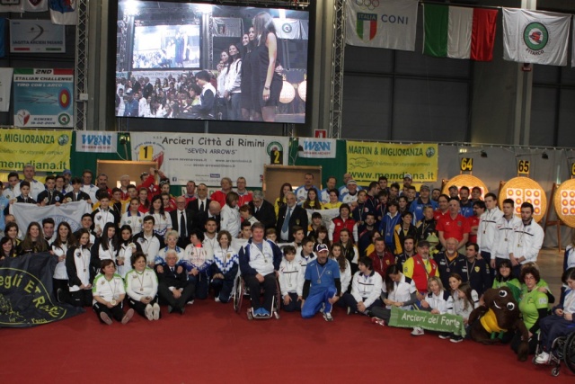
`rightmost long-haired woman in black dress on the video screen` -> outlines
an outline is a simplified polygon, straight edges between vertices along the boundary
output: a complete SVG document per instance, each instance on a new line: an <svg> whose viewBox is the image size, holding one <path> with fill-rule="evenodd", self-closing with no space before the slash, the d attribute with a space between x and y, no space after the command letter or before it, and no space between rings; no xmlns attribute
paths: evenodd
<svg viewBox="0 0 575 384"><path fill-rule="evenodd" d="M256 36L253 55L256 67L253 67L253 104L261 112L263 121L276 120L276 107L283 85L281 76L276 72L278 65L278 37L270 13L261 12L253 18L253 30Z"/></svg>

